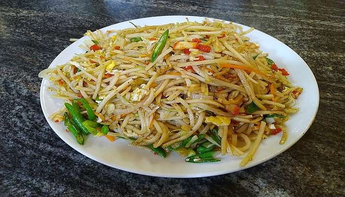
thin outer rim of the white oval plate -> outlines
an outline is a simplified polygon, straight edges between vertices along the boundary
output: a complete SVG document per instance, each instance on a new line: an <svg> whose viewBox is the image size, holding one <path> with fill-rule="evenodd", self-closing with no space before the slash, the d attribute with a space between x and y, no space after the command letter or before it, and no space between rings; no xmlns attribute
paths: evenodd
<svg viewBox="0 0 345 197"><path fill-rule="evenodd" d="M131 19L131 20L127 20L127 21L123 21L123 22L119 22L119 23L115 23L115 24L112 24L112 25L109 25L109 26L113 26L113 25L117 25L117 24L121 24L121 23L128 23L130 21L135 21L135 20L149 20L149 19L153 19L153 18L161 18L161 17L185 17L185 18L188 18L188 17L193 17L193 18L200 18L200 19L210 19L210 20L221 20L221 21L226 21L226 22L230 22L230 21L227 21L227 20L223 20L223 19L217 19L217 18L212 18L212 17L206 17L206 16L193 16L193 15L168 15L168 16L153 16L153 17L144 17L144 18L137 18L137 19ZM248 27L248 26L245 26L245 25L242 25L242 24L239 24L239 23L236 23L236 22L233 22L235 24L238 24L238 25L241 25L241 26L244 26L244 27ZM103 30L105 28L108 28L109 26L106 26L104 28L101 28L99 30ZM256 31L259 31L257 29L255 29ZM303 61L303 63L305 65L307 65L308 69L311 71L311 74L312 74L312 81L314 82L314 85L316 87L316 101L317 101L317 105L316 105L316 110L314 112L314 114L312 115L312 118L311 118L311 121L309 122L308 126L306 127L305 130L301 130L298 134L298 136L293 140L291 141L286 147L283 147L282 149L280 149L279 151L276 151L274 154L271 154L270 156L268 157L265 157L265 158L262 158L260 160L257 160L255 162L252 162L250 164L247 164L243 167L237 167L235 169L229 169L229 170L222 170L222 171L212 171L212 172L207 172L207 173L196 173L196 174L169 174L169 173L165 173L165 174L162 174L162 173L155 173L155 172L148 172L148 171L142 171L142 170L133 170L133 169L128 169L126 167L123 167L123 166L119 166L119 165L113 165L113 164L108 164L106 162L103 162L97 158L94 158L92 155L90 155L88 152L85 152L85 151L82 151L81 149L79 149L75 144L70 144L67 142L66 139L64 139L64 137L62 137L59 132L57 131L57 129L55 128L55 126L53 125L53 122L49 119L49 114L47 114L47 111L44 110L43 106L45 105L43 100L43 92L44 92L44 87L43 87L43 83L44 83L44 80L47 80L47 79L42 79L41 81L41 85L40 85L40 96L39 96L39 99L40 99L40 105L41 105L41 110L43 112L43 115L46 119L46 121L48 122L49 124L49 127L60 137L60 139L62 139L66 144L68 144L71 148L73 148L74 150L76 150L77 152L79 152L80 154L90 158L91 160L94 160L98 163L101 163L101 164L104 164L104 165L107 165L107 166L110 166L110 167L113 167L113 168L116 168L116 169L120 169L120 170L124 170L124 171L127 171L127 172L132 172L132 173L137 173L137 174L141 174L141 175L147 175L147 176L155 176L155 177L167 177L167 178L197 178L197 177L207 177L207 176L215 176L215 175L221 175L221 174L227 174L227 173L232 173L232 172L235 172L235 171L240 171L240 170L243 170L243 169L247 169L249 167L253 167L255 165L259 165L259 164L262 164L268 160L271 160L272 158L280 155L281 153L283 153L284 151L286 151L287 149L289 149L291 146L293 146L297 141L299 141L302 136L310 129L312 123L314 122L315 120L315 117L316 117L316 114L317 114L317 111L318 111L318 108L319 108L319 99L320 99L320 96L319 96L319 88L318 88L318 84L317 84L317 81L316 81L316 78L311 70L311 68L309 67L309 65L303 60L303 58L301 58L293 49L291 49L288 45L286 45L285 43L283 43L282 41L280 41L279 39L265 33L265 32L262 32L262 31L259 31L261 33L264 33L266 36L269 36L273 39L276 39L278 42L280 42L280 44L283 44L284 46L286 46L288 49L290 49L295 55L297 55L298 58L301 59L301 61ZM83 36L85 37L85 36ZM81 38L83 38L81 37ZM70 44L71 45L71 44ZM69 46L70 46L69 45ZM68 47L69 47L68 46ZM57 57L63 53L65 50L67 50L66 47L64 50L62 50L55 58L54 60L50 63L50 66L54 66L53 63L55 62L55 60L57 59Z"/></svg>

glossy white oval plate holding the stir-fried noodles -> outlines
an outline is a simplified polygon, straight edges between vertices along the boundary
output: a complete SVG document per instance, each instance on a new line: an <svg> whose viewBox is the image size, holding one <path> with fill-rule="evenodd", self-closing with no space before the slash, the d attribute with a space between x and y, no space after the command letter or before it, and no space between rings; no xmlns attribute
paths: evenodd
<svg viewBox="0 0 345 197"><path fill-rule="evenodd" d="M159 16L131 20L131 22L140 26L160 25L184 22L186 17L190 21L202 22L204 20L204 17L197 16ZM126 21L101 30L105 32L106 30L119 30L130 27L133 26ZM247 26L242 25L242 27L244 30L248 29ZM72 135L65 131L63 123L55 123L48 118L50 114L57 111L63 105L63 100L50 98L51 93L47 91L49 81L46 79L42 80L40 90L40 100L44 116L56 134L76 151L102 164L138 174L160 177L204 177L230 173L261 164L291 147L309 129L317 112L319 92L311 69L292 49L276 38L257 30L254 30L247 36L250 37L251 41L259 43L260 49L268 52L269 57L279 67L286 68L290 73L288 78L292 84L303 87L304 91L297 100L296 105L300 108L300 112L292 115L286 123L289 135L285 144L279 145L280 134L263 140L257 153L254 155L253 161L249 162L245 167L239 165L242 160L241 157L227 156L222 158L221 162L208 164L186 163L184 158L176 153L170 154L167 158L161 158L147 150L129 146L127 141L122 139L110 142L105 137L89 136L86 139L85 145L80 146ZM80 49L78 45L82 44L85 39L87 38L82 37L69 45L54 59L49 67L65 64L75 53L84 53L85 51Z"/></svg>

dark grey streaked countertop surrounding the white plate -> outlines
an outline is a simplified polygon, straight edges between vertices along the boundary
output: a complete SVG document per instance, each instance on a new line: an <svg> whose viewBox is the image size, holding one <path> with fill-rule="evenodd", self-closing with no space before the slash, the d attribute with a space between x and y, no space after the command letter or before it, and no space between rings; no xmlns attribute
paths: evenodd
<svg viewBox="0 0 345 197"><path fill-rule="evenodd" d="M311 67L320 105L310 130L263 164L225 175L157 178L99 164L50 129L40 70L86 30L159 15L199 15L254 27ZM345 2L261 0L0 1L0 196L345 196Z"/></svg>

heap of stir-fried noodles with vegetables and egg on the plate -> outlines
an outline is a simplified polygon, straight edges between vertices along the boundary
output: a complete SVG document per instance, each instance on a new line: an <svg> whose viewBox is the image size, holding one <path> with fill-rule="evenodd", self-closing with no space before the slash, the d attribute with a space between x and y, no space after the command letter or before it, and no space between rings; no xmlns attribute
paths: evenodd
<svg viewBox="0 0 345 197"><path fill-rule="evenodd" d="M54 85L53 97L87 101L99 124L95 136L175 151L194 163L219 161L217 152L247 152L243 166L262 138L278 134L285 142L283 123L298 112L293 105L302 92L249 41L245 34L252 30L205 20L88 31L90 39L80 45L86 53L40 76ZM87 119L82 103L73 104ZM70 113L63 107L51 118L63 121L64 112Z"/></svg>

